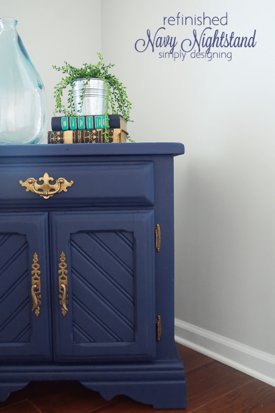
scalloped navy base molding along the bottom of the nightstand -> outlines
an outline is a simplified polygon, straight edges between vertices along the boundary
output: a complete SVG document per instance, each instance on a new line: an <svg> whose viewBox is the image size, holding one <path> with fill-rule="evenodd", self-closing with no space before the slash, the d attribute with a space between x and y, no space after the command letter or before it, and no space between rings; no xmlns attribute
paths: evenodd
<svg viewBox="0 0 275 413"><path fill-rule="evenodd" d="M24 379L24 381L21 381ZM186 380L181 361L97 365L32 365L0 367L0 401L30 381L79 380L106 399L125 395L154 409L186 408ZM11 382L13 381L13 382Z"/></svg>

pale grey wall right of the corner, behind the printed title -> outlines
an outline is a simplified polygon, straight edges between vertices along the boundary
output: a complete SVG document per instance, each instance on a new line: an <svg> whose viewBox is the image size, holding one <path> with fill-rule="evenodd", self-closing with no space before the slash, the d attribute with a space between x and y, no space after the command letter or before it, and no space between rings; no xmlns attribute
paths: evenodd
<svg viewBox="0 0 275 413"><path fill-rule="evenodd" d="M176 317L274 355L275 3L247 5L103 0L102 52L133 103L131 138L185 144L175 159ZM256 29L257 45L227 50L231 61L136 52L147 29L155 34L178 12L227 12L219 33L250 37ZM165 27L179 42L194 28Z"/></svg>

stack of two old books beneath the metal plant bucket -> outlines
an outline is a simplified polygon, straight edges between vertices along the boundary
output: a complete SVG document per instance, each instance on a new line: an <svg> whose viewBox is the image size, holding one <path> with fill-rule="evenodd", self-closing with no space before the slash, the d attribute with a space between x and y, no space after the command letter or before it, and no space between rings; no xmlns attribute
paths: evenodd
<svg viewBox="0 0 275 413"><path fill-rule="evenodd" d="M126 142L127 122L121 115L94 115L51 118L51 131L48 143L103 143L106 142L105 130L110 143Z"/></svg>

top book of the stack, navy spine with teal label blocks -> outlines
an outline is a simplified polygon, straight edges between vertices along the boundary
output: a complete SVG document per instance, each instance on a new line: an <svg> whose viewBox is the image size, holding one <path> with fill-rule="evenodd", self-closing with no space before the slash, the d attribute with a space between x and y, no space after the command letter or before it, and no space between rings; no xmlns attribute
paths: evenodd
<svg viewBox="0 0 275 413"><path fill-rule="evenodd" d="M123 129L127 132L127 122L121 115L109 115L108 121L110 129ZM51 118L51 129L53 131L106 129L107 124L107 116L105 115Z"/></svg>

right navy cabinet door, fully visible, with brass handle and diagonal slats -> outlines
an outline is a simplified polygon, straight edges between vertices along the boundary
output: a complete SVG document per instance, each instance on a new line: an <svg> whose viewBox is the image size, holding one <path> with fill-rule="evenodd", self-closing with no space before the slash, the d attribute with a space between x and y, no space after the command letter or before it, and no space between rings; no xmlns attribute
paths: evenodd
<svg viewBox="0 0 275 413"><path fill-rule="evenodd" d="M153 211L53 212L51 230L55 360L154 357Z"/></svg>

